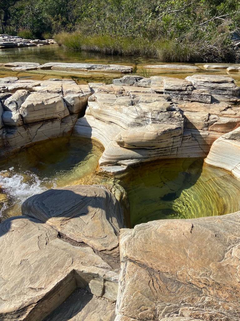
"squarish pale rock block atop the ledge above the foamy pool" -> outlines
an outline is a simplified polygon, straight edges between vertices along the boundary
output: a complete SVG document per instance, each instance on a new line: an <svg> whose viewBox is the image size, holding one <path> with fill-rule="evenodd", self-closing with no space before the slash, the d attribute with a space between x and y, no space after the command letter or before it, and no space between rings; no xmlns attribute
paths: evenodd
<svg viewBox="0 0 240 321"><path fill-rule="evenodd" d="M69 115L63 98L51 93L32 93L20 108L24 123L32 123L45 119L61 119Z"/></svg>

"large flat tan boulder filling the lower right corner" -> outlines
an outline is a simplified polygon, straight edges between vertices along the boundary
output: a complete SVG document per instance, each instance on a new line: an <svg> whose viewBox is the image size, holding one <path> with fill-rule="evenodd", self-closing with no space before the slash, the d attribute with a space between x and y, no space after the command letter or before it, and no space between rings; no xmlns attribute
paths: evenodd
<svg viewBox="0 0 240 321"><path fill-rule="evenodd" d="M237 321L239 231L239 212L121 230L116 319Z"/></svg>

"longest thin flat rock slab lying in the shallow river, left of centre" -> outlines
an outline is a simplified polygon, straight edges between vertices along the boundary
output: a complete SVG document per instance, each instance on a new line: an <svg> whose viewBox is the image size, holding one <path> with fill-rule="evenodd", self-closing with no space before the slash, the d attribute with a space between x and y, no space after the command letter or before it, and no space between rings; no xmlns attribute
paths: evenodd
<svg viewBox="0 0 240 321"><path fill-rule="evenodd" d="M37 67L38 69L52 69L62 71L104 71L104 72L120 72L131 73L132 67L123 65L97 65L97 64L81 64L81 63L63 63L49 62Z"/></svg>

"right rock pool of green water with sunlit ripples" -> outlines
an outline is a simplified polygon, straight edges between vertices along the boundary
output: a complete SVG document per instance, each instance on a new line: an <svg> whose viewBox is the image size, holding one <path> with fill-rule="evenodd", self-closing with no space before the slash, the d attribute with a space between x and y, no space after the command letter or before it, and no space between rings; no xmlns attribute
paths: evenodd
<svg viewBox="0 0 240 321"><path fill-rule="evenodd" d="M132 226L159 219L223 215L240 209L240 181L203 160L162 160L132 169L122 182Z"/></svg>

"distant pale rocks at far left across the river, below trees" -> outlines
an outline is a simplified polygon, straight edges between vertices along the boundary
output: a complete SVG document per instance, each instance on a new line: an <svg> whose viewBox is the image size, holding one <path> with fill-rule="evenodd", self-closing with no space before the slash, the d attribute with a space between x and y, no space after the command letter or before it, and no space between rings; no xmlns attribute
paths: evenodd
<svg viewBox="0 0 240 321"><path fill-rule="evenodd" d="M44 45L57 45L54 39L40 40L40 39L23 39L18 36L10 36L7 34L0 34L0 49L14 48L14 47L35 47Z"/></svg>

